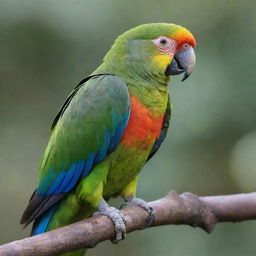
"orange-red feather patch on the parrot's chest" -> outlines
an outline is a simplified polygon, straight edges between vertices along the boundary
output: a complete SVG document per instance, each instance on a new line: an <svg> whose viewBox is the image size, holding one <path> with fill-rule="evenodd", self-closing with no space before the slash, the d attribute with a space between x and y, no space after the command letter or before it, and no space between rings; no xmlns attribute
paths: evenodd
<svg viewBox="0 0 256 256"><path fill-rule="evenodd" d="M160 136L163 115L156 116L151 110L131 96L131 113L121 144L128 147L148 147Z"/></svg>

